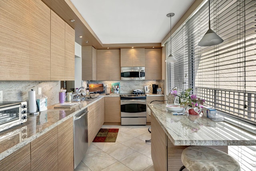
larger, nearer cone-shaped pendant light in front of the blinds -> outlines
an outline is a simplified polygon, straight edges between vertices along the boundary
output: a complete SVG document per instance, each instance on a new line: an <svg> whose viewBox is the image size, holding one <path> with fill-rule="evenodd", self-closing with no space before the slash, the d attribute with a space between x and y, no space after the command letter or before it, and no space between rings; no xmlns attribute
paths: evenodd
<svg viewBox="0 0 256 171"><path fill-rule="evenodd" d="M199 41L198 46L213 46L218 45L223 42L223 39L220 38L212 29L210 21L210 0L209 0L209 29Z"/></svg>

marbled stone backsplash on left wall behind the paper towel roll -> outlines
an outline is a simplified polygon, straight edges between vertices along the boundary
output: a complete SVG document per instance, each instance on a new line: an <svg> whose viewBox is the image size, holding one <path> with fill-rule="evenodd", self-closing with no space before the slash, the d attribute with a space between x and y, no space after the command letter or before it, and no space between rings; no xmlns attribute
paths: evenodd
<svg viewBox="0 0 256 171"><path fill-rule="evenodd" d="M59 102L60 81L0 81L3 101L28 102L28 91L34 89L37 95L38 87L42 87L42 94L48 97L48 106Z"/></svg>

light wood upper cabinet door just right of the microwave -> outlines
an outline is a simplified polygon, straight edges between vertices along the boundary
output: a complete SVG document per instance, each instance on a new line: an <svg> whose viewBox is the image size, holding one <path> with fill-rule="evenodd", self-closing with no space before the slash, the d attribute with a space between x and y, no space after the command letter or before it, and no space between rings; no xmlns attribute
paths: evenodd
<svg viewBox="0 0 256 171"><path fill-rule="evenodd" d="M145 49L146 65L145 65L145 79L146 80L161 80L161 49Z"/></svg>

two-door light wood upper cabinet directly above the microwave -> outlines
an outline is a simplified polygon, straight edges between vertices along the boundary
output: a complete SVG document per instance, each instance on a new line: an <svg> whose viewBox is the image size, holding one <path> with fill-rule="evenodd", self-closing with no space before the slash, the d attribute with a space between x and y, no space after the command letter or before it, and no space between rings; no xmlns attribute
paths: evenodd
<svg viewBox="0 0 256 171"><path fill-rule="evenodd" d="M120 49L121 67L145 67L145 48Z"/></svg>

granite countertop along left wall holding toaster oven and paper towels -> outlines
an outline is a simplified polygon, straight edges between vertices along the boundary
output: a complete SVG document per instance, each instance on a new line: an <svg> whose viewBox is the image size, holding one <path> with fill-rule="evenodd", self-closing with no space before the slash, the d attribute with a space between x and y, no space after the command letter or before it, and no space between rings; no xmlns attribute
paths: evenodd
<svg viewBox="0 0 256 171"><path fill-rule="evenodd" d="M95 100L80 101L71 109L54 109L54 106L48 106L48 110L40 114L28 115L27 122L0 132L0 160L102 98L104 96L99 96Z"/></svg>

